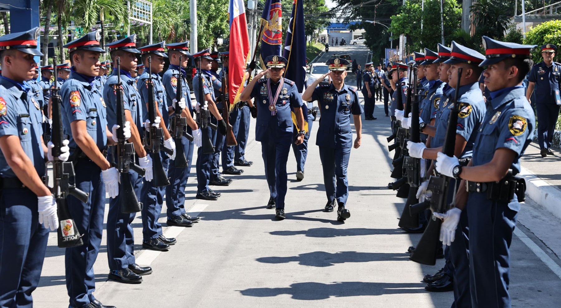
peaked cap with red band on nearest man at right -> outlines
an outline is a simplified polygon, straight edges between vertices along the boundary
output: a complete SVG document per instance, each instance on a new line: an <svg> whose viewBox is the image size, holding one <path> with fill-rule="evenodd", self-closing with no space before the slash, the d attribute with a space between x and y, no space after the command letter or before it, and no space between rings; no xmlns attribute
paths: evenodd
<svg viewBox="0 0 561 308"><path fill-rule="evenodd" d="M537 45L521 45L516 43L500 42L488 36L483 36L483 48L485 48L485 61L479 66L488 66L508 58L528 59L532 57L530 50Z"/></svg>

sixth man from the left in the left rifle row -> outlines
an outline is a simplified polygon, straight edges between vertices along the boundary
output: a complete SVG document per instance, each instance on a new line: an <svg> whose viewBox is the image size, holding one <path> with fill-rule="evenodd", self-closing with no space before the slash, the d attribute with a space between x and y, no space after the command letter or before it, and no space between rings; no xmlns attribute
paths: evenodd
<svg viewBox="0 0 561 308"><path fill-rule="evenodd" d="M211 143L215 146L217 145L217 133L220 131L220 134L226 135L226 122L222 118L219 109L217 108L217 104L215 103L217 97L215 96L214 89L213 89L213 82L210 79L210 74L206 73L206 71L210 71L212 68L212 61L213 58L210 57L210 50L205 49L200 52L197 52L193 55L194 61L197 66L197 73L193 77L193 89L195 91L195 97L197 100L197 112L200 112L200 106L204 104L204 101L208 102L208 109L211 113L210 118L208 119L209 123L213 123L214 125L218 125L218 130L211 129L210 126L206 128L201 128L205 130L204 137L208 137ZM199 62L200 58L200 62ZM201 63L201 67L199 67L199 63ZM202 84L199 81L199 78L203 81ZM200 89L203 88L203 98L200 97ZM202 132L201 132L201 135ZM205 142L205 140L203 140ZM203 148L200 147L197 152L197 199L203 200L217 200L220 196L219 192L214 192L210 189L209 183L211 178L211 167L212 162L211 160L214 157L213 154L204 154Z"/></svg>

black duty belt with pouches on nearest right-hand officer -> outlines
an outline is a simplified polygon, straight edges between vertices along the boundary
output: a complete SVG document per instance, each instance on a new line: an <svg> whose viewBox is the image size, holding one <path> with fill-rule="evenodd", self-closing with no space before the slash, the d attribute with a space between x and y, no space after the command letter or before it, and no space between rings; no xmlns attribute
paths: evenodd
<svg viewBox="0 0 561 308"><path fill-rule="evenodd" d="M466 181L468 192L487 192L487 199L498 202L510 202L516 195L518 202L526 200L526 180L517 176L506 176L498 182Z"/></svg>

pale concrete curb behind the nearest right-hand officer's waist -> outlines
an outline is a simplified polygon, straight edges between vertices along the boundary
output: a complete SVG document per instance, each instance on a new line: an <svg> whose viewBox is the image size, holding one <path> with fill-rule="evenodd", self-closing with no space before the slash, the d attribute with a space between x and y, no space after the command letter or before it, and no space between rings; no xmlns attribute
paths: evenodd
<svg viewBox="0 0 561 308"><path fill-rule="evenodd" d="M561 219L561 191L525 168L518 175L526 180L526 196Z"/></svg>

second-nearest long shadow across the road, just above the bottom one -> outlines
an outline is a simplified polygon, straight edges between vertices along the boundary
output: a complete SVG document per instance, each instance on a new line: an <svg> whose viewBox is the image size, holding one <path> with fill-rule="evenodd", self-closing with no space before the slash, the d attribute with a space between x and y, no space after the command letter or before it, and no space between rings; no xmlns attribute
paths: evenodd
<svg viewBox="0 0 561 308"><path fill-rule="evenodd" d="M404 261L408 260L407 254L392 254L384 252L356 252L356 251L339 251L334 254L325 251L314 251L289 257L264 257L258 258L256 261L261 263L289 263L298 262L300 265L326 267L335 264L348 262L372 262L372 261Z"/></svg>

